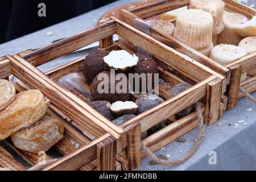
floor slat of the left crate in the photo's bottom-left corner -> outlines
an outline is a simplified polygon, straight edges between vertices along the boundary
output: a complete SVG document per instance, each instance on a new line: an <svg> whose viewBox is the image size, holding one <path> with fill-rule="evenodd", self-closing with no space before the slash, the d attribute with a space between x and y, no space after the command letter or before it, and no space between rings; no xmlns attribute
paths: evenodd
<svg viewBox="0 0 256 182"><path fill-rule="evenodd" d="M13 155L0 146L0 167L6 170L24 171L26 168L16 160Z"/></svg>

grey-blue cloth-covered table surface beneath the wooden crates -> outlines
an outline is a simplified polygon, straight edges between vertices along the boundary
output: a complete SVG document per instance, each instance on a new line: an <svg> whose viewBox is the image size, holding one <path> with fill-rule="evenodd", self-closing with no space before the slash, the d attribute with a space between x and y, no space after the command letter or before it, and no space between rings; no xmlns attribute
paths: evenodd
<svg viewBox="0 0 256 182"><path fill-rule="evenodd" d="M134 2L136 0L121 0L100 9L90 11L75 18L55 24L43 30L12 40L0 45L0 55L14 54L25 49L35 49L47 46L53 40L72 36L78 32L96 26L98 18L106 11ZM256 1L242 1L253 6ZM52 32L52 36L46 33ZM61 64L68 63L84 55L86 51L72 53L69 56L56 59L51 64L40 67L42 71L48 71ZM256 97L256 93L253 93ZM244 121L243 123L239 123ZM238 124L237 124L238 123ZM236 124L238 126L236 126ZM236 127L235 127L236 126ZM238 101L234 109L225 111L224 117L212 126L206 126L205 137L199 150L183 164L175 167L162 166L160 164L150 165L149 158L142 160L142 166L137 170L256 170L256 105L253 102L242 98ZM161 150L155 152L156 155L167 155L169 160L183 156L189 148L193 146L197 137L198 129L185 134L184 143L174 141ZM212 154L214 154L212 156ZM216 156L216 163L213 157ZM213 161L213 163L210 163Z"/></svg>

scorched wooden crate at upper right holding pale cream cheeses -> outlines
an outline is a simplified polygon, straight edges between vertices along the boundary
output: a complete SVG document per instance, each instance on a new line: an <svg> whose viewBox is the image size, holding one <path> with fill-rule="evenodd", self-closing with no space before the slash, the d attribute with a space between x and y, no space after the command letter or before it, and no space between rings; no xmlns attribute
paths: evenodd
<svg viewBox="0 0 256 182"><path fill-rule="evenodd" d="M256 10L243 5L236 0L224 0L225 2L225 10L240 13L247 18L252 18L256 14ZM150 25L146 23L146 19L154 19L157 18L157 15L166 13L167 11L171 11L177 9L179 7L189 5L189 0L166 0L166 1L158 1L154 3L149 3L144 6L133 6L128 7L127 9L120 10L119 17L120 19L130 24L133 27L138 27L140 29L140 25L142 27L147 27L147 34L149 34L152 38L159 40L160 42L170 46L177 51L184 53L185 55L191 57L192 59L202 63L220 73L222 76L225 76L226 83L228 84L228 89L223 95L222 100L226 102L227 100L227 109L230 109L237 104L237 100L243 97L243 94L240 92L239 87L242 86L249 93L254 92L256 90L256 76L247 79L240 83L241 73L248 71L251 68L256 67L256 52L250 53L249 55L243 56L237 60L234 60L226 65L220 65L213 61L207 56L204 56L200 52L197 52L195 49L186 46L180 41L176 40L170 35L165 34L162 31L156 30L153 27L149 27ZM173 20L175 23L175 19ZM145 30L145 28L143 28ZM141 30L143 31L143 30ZM226 98L227 97L227 98Z"/></svg>

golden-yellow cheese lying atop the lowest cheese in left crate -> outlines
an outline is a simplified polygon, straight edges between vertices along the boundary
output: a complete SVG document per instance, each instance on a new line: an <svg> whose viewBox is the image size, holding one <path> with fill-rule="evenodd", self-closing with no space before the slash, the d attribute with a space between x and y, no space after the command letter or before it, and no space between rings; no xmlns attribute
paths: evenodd
<svg viewBox="0 0 256 182"><path fill-rule="evenodd" d="M15 100L0 111L0 140L38 121L50 102L39 90L28 90L16 95Z"/></svg>

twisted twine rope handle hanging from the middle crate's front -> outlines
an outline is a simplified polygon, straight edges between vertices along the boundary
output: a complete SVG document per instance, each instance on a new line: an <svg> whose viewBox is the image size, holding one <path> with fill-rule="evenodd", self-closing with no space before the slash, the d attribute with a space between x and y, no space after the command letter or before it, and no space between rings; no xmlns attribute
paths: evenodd
<svg viewBox="0 0 256 182"><path fill-rule="evenodd" d="M187 152L186 155L184 155L182 158L180 159L176 159L176 160L164 160L164 159L159 159L158 156L156 156L152 151L150 151L150 149L148 147L146 147L146 145L144 143L142 143L142 148L144 151L146 151L146 153L148 154L148 156L150 156L152 158L152 160L154 160L154 162L158 163L158 164L163 164L163 165L167 165L167 166L175 166L177 164L181 164L183 162L185 162L186 160L188 160L193 154L195 154L195 152L197 151L197 149L200 146L201 141L204 138L204 119L203 119L203 114L202 114L202 110L201 110L201 106L202 104L197 102L196 103L196 112L197 112L197 116L199 118L199 136L197 137L197 139L195 140L195 144L194 146L191 148L191 150L189 152Z"/></svg>

